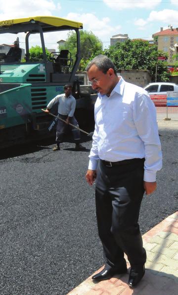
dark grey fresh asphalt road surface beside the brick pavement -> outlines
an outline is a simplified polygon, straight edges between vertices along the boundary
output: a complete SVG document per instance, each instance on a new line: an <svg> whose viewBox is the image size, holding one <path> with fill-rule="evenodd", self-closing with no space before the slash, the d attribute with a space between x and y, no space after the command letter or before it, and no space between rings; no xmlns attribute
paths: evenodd
<svg viewBox="0 0 178 295"><path fill-rule="evenodd" d="M177 210L178 121L160 126L164 167L144 196L147 232ZM0 152L0 295L66 295L104 263L85 152L52 141Z"/></svg>

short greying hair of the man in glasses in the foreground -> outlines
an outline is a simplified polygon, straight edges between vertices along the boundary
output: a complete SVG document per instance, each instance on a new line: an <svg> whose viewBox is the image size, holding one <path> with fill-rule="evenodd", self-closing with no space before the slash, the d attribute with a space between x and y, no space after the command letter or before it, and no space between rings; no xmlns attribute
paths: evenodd
<svg viewBox="0 0 178 295"><path fill-rule="evenodd" d="M103 55L98 55L97 57L95 57L94 59L92 59L88 66L86 67L86 71L89 70L89 68L91 67L91 65L95 65L98 67L98 69L100 71L102 71L104 74L107 73L108 69L109 68L112 68L114 70L114 73L115 75L117 75L117 72L116 72L116 68L114 66L114 63L111 61L111 59L109 59L108 57L106 56L103 56Z"/></svg>

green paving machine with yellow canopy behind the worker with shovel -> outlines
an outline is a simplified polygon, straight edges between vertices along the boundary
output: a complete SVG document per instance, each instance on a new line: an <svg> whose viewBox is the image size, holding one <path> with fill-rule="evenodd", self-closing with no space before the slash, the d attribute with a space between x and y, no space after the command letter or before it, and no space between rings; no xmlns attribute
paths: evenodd
<svg viewBox="0 0 178 295"><path fill-rule="evenodd" d="M79 30L82 28L80 22L52 16L0 21L0 34L8 34L13 40L22 39L22 35L25 35L23 59L8 60L4 53L0 53L0 148L51 136L51 117L42 109L53 97L63 93L63 86L67 83L73 85L75 117L80 127L93 128L90 86L80 85L75 75L80 62ZM70 30L76 32L75 58L67 49L53 51L47 58L45 40L50 43L49 33L59 36L60 40L64 36L60 34ZM34 42L36 36L42 48L39 60L32 59L29 51L29 40Z"/></svg>

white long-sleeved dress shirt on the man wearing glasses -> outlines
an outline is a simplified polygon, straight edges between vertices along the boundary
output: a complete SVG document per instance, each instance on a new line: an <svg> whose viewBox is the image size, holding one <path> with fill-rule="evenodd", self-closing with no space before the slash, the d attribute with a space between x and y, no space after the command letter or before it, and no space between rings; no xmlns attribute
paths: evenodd
<svg viewBox="0 0 178 295"><path fill-rule="evenodd" d="M109 97L98 94L89 169L98 160L117 162L145 158L144 180L155 181L162 168L156 108L148 93L121 76Z"/></svg>

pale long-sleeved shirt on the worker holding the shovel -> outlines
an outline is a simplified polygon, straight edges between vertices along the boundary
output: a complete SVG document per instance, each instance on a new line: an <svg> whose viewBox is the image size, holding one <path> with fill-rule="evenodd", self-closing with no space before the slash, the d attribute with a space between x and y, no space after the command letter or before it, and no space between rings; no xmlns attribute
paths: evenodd
<svg viewBox="0 0 178 295"><path fill-rule="evenodd" d="M58 102L58 113L60 115L66 115L68 117L73 117L75 108L76 108L76 100L72 95L68 97L65 94L59 94L54 97L47 105L47 109L51 109L52 106Z"/></svg>

